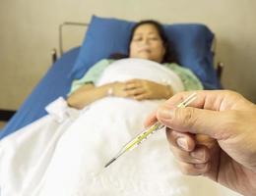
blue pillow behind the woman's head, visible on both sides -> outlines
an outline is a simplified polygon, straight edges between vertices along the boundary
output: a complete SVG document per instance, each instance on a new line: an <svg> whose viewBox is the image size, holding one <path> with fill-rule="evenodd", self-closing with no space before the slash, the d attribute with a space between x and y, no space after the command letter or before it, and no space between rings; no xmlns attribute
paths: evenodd
<svg viewBox="0 0 256 196"><path fill-rule="evenodd" d="M93 16L71 75L81 78L93 65L113 53L128 53L133 22ZM206 89L220 88L211 52L214 34L206 25L163 25L179 63L194 72Z"/></svg>

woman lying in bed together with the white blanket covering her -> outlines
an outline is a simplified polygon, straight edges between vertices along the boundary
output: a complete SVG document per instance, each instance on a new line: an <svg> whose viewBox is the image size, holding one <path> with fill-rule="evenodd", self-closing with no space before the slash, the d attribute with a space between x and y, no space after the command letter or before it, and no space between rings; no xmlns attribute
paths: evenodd
<svg viewBox="0 0 256 196"><path fill-rule="evenodd" d="M137 25L130 58L103 60L74 81L68 104L79 117L65 101L53 103L49 116L1 141L1 196L224 195L177 170L164 131L96 174L164 99L202 88L193 73L166 64L161 33L158 24Z"/></svg>

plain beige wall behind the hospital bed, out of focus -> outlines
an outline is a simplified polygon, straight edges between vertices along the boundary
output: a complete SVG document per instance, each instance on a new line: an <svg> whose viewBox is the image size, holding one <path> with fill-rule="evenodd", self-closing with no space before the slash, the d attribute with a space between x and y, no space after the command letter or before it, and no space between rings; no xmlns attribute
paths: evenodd
<svg viewBox="0 0 256 196"><path fill-rule="evenodd" d="M94 14L208 25L217 37L215 62L224 62L224 88L256 103L255 10L254 0L1 0L0 109L19 109L49 69L50 51L58 50L58 25L89 23ZM64 49L80 45L85 30L65 28Z"/></svg>

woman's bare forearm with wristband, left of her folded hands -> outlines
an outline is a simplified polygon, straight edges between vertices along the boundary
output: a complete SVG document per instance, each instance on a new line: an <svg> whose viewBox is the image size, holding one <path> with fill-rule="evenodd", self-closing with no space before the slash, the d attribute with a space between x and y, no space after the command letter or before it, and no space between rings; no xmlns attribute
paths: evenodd
<svg viewBox="0 0 256 196"><path fill-rule="evenodd" d="M93 83L85 84L73 92L67 99L68 105L77 109L83 109L85 106L103 97L113 95L126 97L125 83L113 82L96 87Z"/></svg>

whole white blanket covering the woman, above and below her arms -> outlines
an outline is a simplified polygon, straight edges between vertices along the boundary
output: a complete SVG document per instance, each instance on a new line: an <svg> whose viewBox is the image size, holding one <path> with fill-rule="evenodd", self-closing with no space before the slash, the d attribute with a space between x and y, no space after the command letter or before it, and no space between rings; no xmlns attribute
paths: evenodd
<svg viewBox="0 0 256 196"><path fill-rule="evenodd" d="M124 78L173 79L174 83L174 73L160 65L134 62L145 66L136 72L130 60L120 64L122 68L114 64L97 85ZM181 90L175 82L176 91ZM77 118L76 111L58 100L48 108L48 116L0 142L1 196L235 195L205 178L182 175L164 130L100 172L143 129L145 118L161 102L107 97L86 107Z"/></svg>

